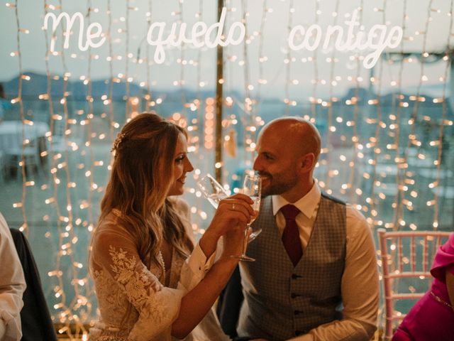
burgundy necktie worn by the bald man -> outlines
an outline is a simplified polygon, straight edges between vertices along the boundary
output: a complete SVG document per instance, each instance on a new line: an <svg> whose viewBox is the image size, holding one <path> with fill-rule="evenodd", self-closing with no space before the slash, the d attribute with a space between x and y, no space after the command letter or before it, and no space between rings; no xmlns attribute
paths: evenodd
<svg viewBox="0 0 454 341"><path fill-rule="evenodd" d="M301 240L299 239L299 232L295 218L300 212L294 205L285 205L281 208L281 212L285 217L285 228L282 233L282 244L284 244L287 254L293 266L296 266L303 255L301 247Z"/></svg>

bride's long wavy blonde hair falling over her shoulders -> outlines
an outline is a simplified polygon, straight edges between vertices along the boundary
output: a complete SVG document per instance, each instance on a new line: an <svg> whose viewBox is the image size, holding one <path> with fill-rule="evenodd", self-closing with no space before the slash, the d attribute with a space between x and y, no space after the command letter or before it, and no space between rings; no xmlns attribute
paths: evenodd
<svg viewBox="0 0 454 341"><path fill-rule="evenodd" d="M187 137L176 124L143 113L125 124L114 142L114 164L99 222L114 208L120 210L147 266L157 259L162 238L182 256L193 249L174 202L167 198L179 134Z"/></svg>

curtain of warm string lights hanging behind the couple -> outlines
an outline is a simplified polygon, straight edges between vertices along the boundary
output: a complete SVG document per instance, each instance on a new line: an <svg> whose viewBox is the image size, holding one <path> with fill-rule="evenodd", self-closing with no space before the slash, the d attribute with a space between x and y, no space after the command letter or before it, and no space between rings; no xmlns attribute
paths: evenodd
<svg viewBox="0 0 454 341"><path fill-rule="evenodd" d="M87 256L111 169L111 144L143 110L189 131L195 170L184 197L196 234L214 212L196 180L222 167L226 190L237 192L252 167L261 127L284 115L316 124L323 139L319 185L355 205L374 234L378 227L452 229L452 0L226 0L224 35L240 22L245 37L224 48L222 80L215 77L216 48L182 43L165 48L164 63L157 63L156 47L147 42L150 26L165 22L167 37L172 23L187 23L189 36L197 21L216 22L215 2L45 0L34 11L20 0L4 2L9 59L2 63L2 80L12 104L5 120L23 123L23 153L12 163L0 158L8 172L0 210L30 239L52 318L70 338L87 339L96 317ZM77 11L84 28L102 24L106 41L99 48L77 48L78 24L68 49L61 27L53 33L42 27L47 13ZM370 51L340 51L323 41L314 50L289 48L295 26L316 24L323 34L329 25L340 26L346 32L353 16L357 31L367 33L375 24L401 27L402 42L384 50L370 69L363 63ZM294 36L296 43L303 39L301 32ZM216 82L224 92L224 153L215 165ZM40 162L30 165L26 150L33 141L26 131L38 126L47 129Z"/></svg>

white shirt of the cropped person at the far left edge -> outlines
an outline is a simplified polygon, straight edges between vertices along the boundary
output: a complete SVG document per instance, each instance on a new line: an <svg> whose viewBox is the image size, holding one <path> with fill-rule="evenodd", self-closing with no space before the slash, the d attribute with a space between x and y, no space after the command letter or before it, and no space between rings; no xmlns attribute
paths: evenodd
<svg viewBox="0 0 454 341"><path fill-rule="evenodd" d="M0 340L22 337L22 295L26 290L21 261L5 218L0 213Z"/></svg>

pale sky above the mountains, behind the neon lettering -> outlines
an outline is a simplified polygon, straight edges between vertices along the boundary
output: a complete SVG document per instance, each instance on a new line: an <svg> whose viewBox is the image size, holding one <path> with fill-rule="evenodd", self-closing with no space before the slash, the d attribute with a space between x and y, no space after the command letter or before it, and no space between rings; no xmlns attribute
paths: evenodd
<svg viewBox="0 0 454 341"><path fill-rule="evenodd" d="M204 21L207 26L216 23L216 1L212 0L130 0L128 10L126 1L111 2L111 45L108 41L99 48L92 49L92 61L88 63L89 53L77 48L78 26L74 26L74 34L70 38L70 48L62 55L49 58L49 69L52 74L70 72L71 77L91 77L105 79L111 75L109 58L110 48L114 56L121 56L112 63L113 75L130 77L133 82L150 82L152 87L172 89L180 86L184 80L184 87L195 89L198 85L205 88L214 88L216 83L216 49L195 48L186 45L184 48L170 48L165 50L165 63L157 65L153 62L155 47L148 45L146 34L148 31L147 13L151 13L151 23L157 21L165 23L164 34L168 35L172 23L183 21L188 28L192 28L196 21ZM250 0L226 1L228 9L226 16L226 30L233 22L241 21L243 13L246 16L246 31L250 37L248 44L224 48L226 63L224 67L226 89L248 90L253 96L278 96L299 98L301 94L307 96L316 93L319 96L341 94L348 87L355 86L355 77L360 76L361 85L368 87L371 72L380 77L381 82L376 87L383 89L392 87L391 83L397 80L400 64L387 65L378 62L373 70L367 70L362 64L358 66L355 60L350 60L350 53L341 53L333 48L318 48L315 52L308 50L289 51L289 28L301 25L308 28L312 24L321 27L322 34L326 33L328 25L343 26L345 31L345 16L351 15L354 9L364 4L362 9L362 23L367 32L372 25L386 24L387 27L400 26L404 30L404 40L394 50L389 52L415 52L422 50L440 52L445 50L450 31L450 2L448 0L267 0L267 11L264 16L264 1ZM15 9L7 7L7 1L0 1L0 81L10 80L18 75L19 58L11 57L11 53L18 50L17 23ZM48 1L48 4L57 6L59 1ZM91 11L89 18L85 17L84 28L89 22L98 22L104 33L109 32L108 1L79 1L62 0L62 11L70 15L76 12L87 14L87 4L92 4L96 11ZM293 4L293 8L290 5ZM430 9L428 5L431 4ZM151 11L150 11L151 8ZM201 8L201 10L200 10ZM29 31L20 33L21 65L23 71L45 73L46 36L42 30L45 15L44 1L18 0L18 22L21 29ZM52 11L60 13L60 9ZM338 13L333 16L333 12ZM201 14L199 14L201 13ZM406 19L404 20L404 13ZM262 19L266 21L262 24ZM430 21L428 21L430 18ZM128 33L126 33L128 28ZM189 29L188 29L189 31ZM427 34L425 35L424 32ZM57 31L57 50L62 50L61 32ZM50 34L48 43L50 43ZM452 44L451 44L452 45ZM246 48L245 48L246 46ZM260 51L262 51L260 53ZM149 61L146 55L148 52ZM357 51L356 51L357 52ZM362 51L363 55L367 51ZM127 58L127 55L130 57ZM260 55L262 63L260 63ZM137 63L135 60L142 60ZM185 60L186 65L178 63ZM292 60L286 63L286 59ZM245 60L248 63L245 63ZM330 60L336 60L331 63ZM63 61L65 63L63 63ZM148 72L147 72L148 67ZM437 88L440 77L445 72L444 63L423 65L414 58L412 63L406 63L402 71L402 87L409 89L417 87L421 77L426 76L425 85ZM265 81L260 81L265 80ZM334 80L334 83L333 83ZM260 84L260 82L261 84ZM315 85L314 85L315 84ZM333 85L334 84L334 85ZM438 86L439 87L439 86Z"/></svg>

